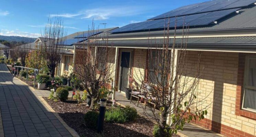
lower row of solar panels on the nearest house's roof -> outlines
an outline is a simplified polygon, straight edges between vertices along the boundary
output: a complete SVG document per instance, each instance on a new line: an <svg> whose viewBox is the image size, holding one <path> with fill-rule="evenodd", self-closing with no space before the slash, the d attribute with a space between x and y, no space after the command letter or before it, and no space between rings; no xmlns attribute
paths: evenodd
<svg viewBox="0 0 256 137"><path fill-rule="evenodd" d="M151 20L151 21L145 21L140 23L133 23L118 29L114 29L112 30L112 33L149 30L149 29L162 29L167 27L168 23L169 23L169 27L171 28L175 27L175 25L177 27L182 27L183 25L185 26L209 25L210 23L213 23L214 21L219 20L222 17L229 15L239 9L240 8L193 14L193 15L187 15L187 16L172 17L168 19Z"/></svg>

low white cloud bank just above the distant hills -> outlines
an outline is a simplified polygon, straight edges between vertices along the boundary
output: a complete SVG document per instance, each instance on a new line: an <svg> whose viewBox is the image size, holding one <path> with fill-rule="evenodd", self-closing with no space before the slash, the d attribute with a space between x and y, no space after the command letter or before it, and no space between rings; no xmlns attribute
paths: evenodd
<svg viewBox="0 0 256 137"><path fill-rule="evenodd" d="M30 37L30 38L38 38L41 36L41 34L39 33L22 32L16 29L15 30L2 29L0 35Z"/></svg>

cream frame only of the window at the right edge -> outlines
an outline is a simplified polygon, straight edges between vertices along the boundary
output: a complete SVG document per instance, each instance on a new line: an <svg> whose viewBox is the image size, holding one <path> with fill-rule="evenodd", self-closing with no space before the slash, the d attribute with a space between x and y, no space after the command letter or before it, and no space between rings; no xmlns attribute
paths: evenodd
<svg viewBox="0 0 256 137"><path fill-rule="evenodd" d="M254 86L248 86L248 85L247 85L247 78L246 78L246 76L249 75L250 59L255 59L255 60L256 60L256 56L246 56L246 57L245 57L244 84L243 84L244 88L243 88L242 110L246 110L246 111L250 111L250 112L256 113L256 110L254 110L254 109L244 108L244 99L245 99L245 92L246 92L246 89L253 89L253 90L256 90L256 86L254 87Z"/></svg>

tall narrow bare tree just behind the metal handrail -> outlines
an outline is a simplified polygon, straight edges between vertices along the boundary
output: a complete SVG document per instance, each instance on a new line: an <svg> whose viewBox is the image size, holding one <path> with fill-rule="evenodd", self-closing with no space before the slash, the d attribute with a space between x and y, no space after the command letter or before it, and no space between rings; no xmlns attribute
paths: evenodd
<svg viewBox="0 0 256 137"><path fill-rule="evenodd" d="M50 75L54 77L66 40L66 30L64 29L62 18L49 17L45 25L44 34L41 35L46 41L42 41L41 45L43 58L46 60Z"/></svg>

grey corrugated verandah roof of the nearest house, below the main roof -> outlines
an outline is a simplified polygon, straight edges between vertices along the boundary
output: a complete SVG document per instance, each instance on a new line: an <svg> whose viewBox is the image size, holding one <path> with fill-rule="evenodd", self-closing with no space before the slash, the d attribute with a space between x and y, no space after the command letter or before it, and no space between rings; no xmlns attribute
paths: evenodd
<svg viewBox="0 0 256 137"><path fill-rule="evenodd" d="M166 40L166 39L165 39ZM99 41L105 44L103 41ZM123 39L108 40L108 45L113 47L148 47L160 46L164 39ZM174 38L169 39L170 46L173 44ZM256 37L204 37L204 38L176 38L175 44L181 45L187 43L190 47L203 48L256 48Z"/></svg>

